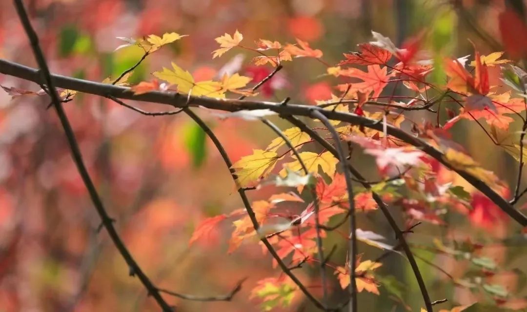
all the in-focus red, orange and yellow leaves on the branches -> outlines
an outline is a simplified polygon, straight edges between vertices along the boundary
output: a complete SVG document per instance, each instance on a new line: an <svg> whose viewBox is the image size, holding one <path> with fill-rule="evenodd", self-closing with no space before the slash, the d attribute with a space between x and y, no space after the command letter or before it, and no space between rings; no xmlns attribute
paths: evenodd
<svg viewBox="0 0 527 312"><path fill-rule="evenodd" d="M316 105L335 112L352 112L358 116L378 120L385 125L385 129L381 131L363 126L340 125L338 120L331 120L331 125L335 127L340 139L348 144L349 156L352 157L354 147L358 146L364 154L374 158L378 175L382 179L378 182L366 182L371 189L356 187L358 192L354 198L348 198L346 179L337 168L338 158L329 150L298 152L300 149L315 146L316 142L298 127L287 128L282 134L288 142L282 137L277 137L265 149L255 149L251 155L241 157L232 165L237 188L258 188L267 184L291 188L286 193L275 194L267 200L251 203L260 226L258 230L255 229L246 209L238 209L230 214L204 219L194 230L190 244L206 239L219 223L233 219L228 253L237 250L243 241L257 241L265 237L276 248L276 253L282 260L289 259L291 266L320 265L316 257L321 251L317 244L318 236L324 238L332 225L338 225L333 228L338 229L343 224L340 220L349 216L350 203L354 204L357 212L374 212L378 207L372 198L372 192L382 196L384 202L401 207L407 216L408 226L415 221L445 225L443 216L450 212L467 215L477 226L506 222L504 214L489 199L455 184L450 170L423 150L389 136L386 126L401 127L403 122L412 124L413 131L419 137L443 152L445 162L452 168L472 174L496 192L507 196L509 189L506 184L490 170L482 168L461 145L454 142L449 131L462 119L472 120L485 129L479 121L484 119L490 128L488 133L493 142L518 162L522 162L523 143L518 139L518 135L511 135L508 130L515 120L511 116L520 118L524 123L527 118L520 114L527 107L524 96L527 73L519 67L510 66L511 61L501 59L502 52L482 56L476 50L474 60L469 65L471 70L465 66L468 57L443 59L441 68L448 79L444 84L433 84L429 76L435 71L435 64L427 58L427 53L422 51L422 38L415 38L403 48L397 48L389 38L375 32L373 36L375 41L360 44L358 52L344 54L343 61L336 66L328 66L327 75L337 77L341 83L335 85L337 94L333 94L329 99L320 99ZM184 36L177 33L166 33L161 37L150 35L139 40L124 38L126 44L118 49L138 45L146 56L182 37ZM314 58L325 63L321 59L323 52L311 48L300 39L297 39L297 44L281 44L260 39L255 48L242 46L242 40L243 36L238 31L232 36L225 34L216 38L220 48L212 53L212 57L221 57L231 49L239 48L258 54L252 59L252 63L257 66L270 65L278 68L282 66L282 62L291 62L299 57ZM267 55L267 52L274 55ZM489 71L497 66L503 66L502 80L511 86L511 90L503 91L501 86L491 85ZM170 90L175 86L178 93L193 96L226 98L227 92L243 97L257 94L256 87L244 89L252 79L238 73L225 74L219 81L197 81L176 63L172 62L171 67L163 67L161 71L153 73L155 78L163 80L165 84L159 83L157 79L141 82L132 87L133 92L144 94L155 90ZM115 82L108 78L103 83L126 85L130 74L131 72ZM389 84L402 84L408 94L413 95L382 96ZM34 93L2 87L13 96L45 94L44 90ZM75 94L75 91L62 90L61 97L66 101ZM378 102L383 98L387 100ZM402 114L404 110L424 110L439 114L443 103L454 103L460 107L457 112L444 108L448 120L443 124L440 124L439 118L436 125L429 122L416 124ZM437 110L432 110L434 105ZM270 115L269 112L254 110L226 114L223 117L260 120L267 115ZM324 125L319 124L315 128L323 136L330 134L330 129ZM294 146L295 150L292 150L290 145ZM281 168L277 170L279 164ZM307 174L303 171L304 166ZM320 226L323 230L319 233ZM387 252L398 252L396 246L385 243L385 237L372 231L358 229L352 235L370 246ZM349 235L344 234L343 240L348 239ZM434 250L438 254L458 260L470 260L474 265L472 280L456 279L456 285L475 292L481 286L499 306L515 309L526 307L527 301L513 298L502 285L481 281L482 278L494 275L499 267L492 259L479 256L478 249L479 245L472 243L450 248L436 241ZM381 267L382 263L372 259L362 260L362 257L365 256L360 255L354 266L353 276L357 290L379 295L382 278L376 277L375 270ZM276 264L275 260L274 265ZM328 260L324 265L334 270L341 288L348 287L352 276L349 261L337 264ZM263 301L262 309L266 311L277 306L286 307L298 295L297 285L287 278L262 279L252 290L252 297ZM466 311L470 307L455 308L451 311L463 309Z"/></svg>

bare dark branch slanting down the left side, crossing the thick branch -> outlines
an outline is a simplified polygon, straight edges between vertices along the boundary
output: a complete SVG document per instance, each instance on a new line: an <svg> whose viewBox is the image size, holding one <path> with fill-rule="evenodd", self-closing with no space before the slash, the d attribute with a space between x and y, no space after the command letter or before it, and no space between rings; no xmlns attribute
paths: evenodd
<svg viewBox="0 0 527 312"><path fill-rule="evenodd" d="M88 190L88 193L90 194L93 205L95 206L97 213L99 213L99 216L101 217L104 227L108 231L108 234L110 235L110 238L112 239L115 247L119 250L122 257L126 261L126 264L128 264L130 271L134 275L138 276L138 278L141 280L141 283L147 289L148 294L154 297L155 301L157 301L158 305L163 309L164 312L172 312L173 308L167 303L167 301L163 299L163 297L159 294L159 291L155 288L155 286L152 284L152 282L147 277L147 275L143 273L142 269L135 262L132 255L130 254L126 246L124 245L121 238L119 237L119 234L115 230L112 220L110 216L108 215L108 213L106 212L106 209L104 208L102 200L99 197L99 194L97 193L95 185L92 182L90 174L88 173L88 170L86 169L86 166L84 165L82 154L81 154L79 145L77 144L75 134L73 132L73 129L70 125L69 120L67 119L66 113L64 112L64 109L62 108L60 98L58 97L53 79L51 78L50 70L47 67L44 54L42 53L42 49L40 48L40 45L38 43L38 37L33 27L31 26L29 18L27 17L24 4L22 3L22 0L13 0L13 2L16 7L16 11L18 13L18 17L20 18L20 21L22 25L24 26L27 37L30 39L31 47L33 49L33 54L35 55L35 59L38 63L38 66L41 69L41 73L45 80L46 86L50 90L50 96L53 102L53 106L55 107L58 118L60 119L62 127L64 128L64 132L66 134L67 142L70 146L71 154L75 162L75 165L77 166L77 169L79 170L79 174L81 175L82 180L84 182L84 185L86 186L86 189Z"/></svg>

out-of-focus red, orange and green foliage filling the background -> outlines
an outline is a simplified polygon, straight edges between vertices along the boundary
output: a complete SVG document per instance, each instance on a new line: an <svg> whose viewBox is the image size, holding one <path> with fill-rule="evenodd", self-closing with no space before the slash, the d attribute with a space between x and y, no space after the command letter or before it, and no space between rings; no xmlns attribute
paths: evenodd
<svg viewBox="0 0 527 312"><path fill-rule="evenodd" d="M260 80L272 68L250 64L254 55L229 52L212 59L214 38L238 29L244 41L259 38L308 41L324 51L324 61L337 64L342 53L355 51L367 42L371 31L392 38L401 46L406 38L425 31L434 58L461 57L473 53L471 39L483 54L501 51L497 16L514 1L432 0L27 0L32 22L52 72L101 81L116 77L142 56L138 47L113 50L115 37L141 37L164 32L188 34L147 58L130 82L151 79L150 73L171 61L189 69L197 80L218 77L234 69ZM520 2L521 4L521 2ZM522 6L516 7L521 11ZM0 2L0 57L35 67L27 38L11 1ZM444 73L437 68L433 79ZM496 79L497 80L497 79ZM498 84L497 81L492 84ZM9 76L7 86L38 90L39 87ZM337 80L314 59L288 63L259 98L314 104L330 98ZM404 92L403 90L397 90ZM389 90L389 92L392 92ZM156 311L153 300L135 278L104 231L97 234L99 219L77 174L63 131L43 97L18 97L0 92L0 311ZM143 109L165 110L161 105L138 103ZM154 283L163 288L196 295L227 293L238 280L248 277L241 292L228 303L169 300L178 311L256 311L258 301L250 291L259 279L279 276L270 257L258 244L245 244L227 254L232 225L221 224L189 247L193 229L205 217L241 207L235 185L216 149L202 130L183 115L146 117L111 100L78 95L65 104L97 188L133 255ZM422 113L409 115L413 120ZM442 117L443 118L443 117ZM444 117L446 118L446 117ZM207 122L233 160L265 147L274 135L259 124L208 118ZM283 127L289 125L277 120ZM409 130L411 125L402 127ZM511 131L518 130L518 125ZM467 147L483 167L514 185L517 163L495 148L482 130L469 122L455 126L454 139ZM376 178L371 159L358 157L359 167ZM370 169L368 169L370 168ZM459 185L471 190L462 179ZM266 199L277 192L266 186L250 193ZM393 207L397 212L397 207ZM399 221L402 219L399 218ZM468 304L476 299L493 300L488 291L473 294L454 285L435 263L455 278L471 274L469 260L430 252L437 239L445 245L470 238L483 245L480 256L500 267L489 275L489 285L522 298L525 276L525 240L513 236L508 220L478 222L465 215L450 216L446 226L423 224L411 238L419 266L433 298ZM361 215L359 227L375 230L395 241L391 229L377 212ZM339 234L327 238L327 246L341 242ZM424 246L424 247L419 247ZM380 254L362 246L368 258ZM339 245L335 261L344 263L345 246ZM516 270L515 270L516 269ZM406 261L389 256L379 269L380 298L359 295L364 311L418 310L421 295ZM302 280L317 275L316 268L296 270ZM386 274L392 277L384 277ZM345 298L336 278L335 302ZM313 289L317 294L317 289ZM320 294L318 294L320 295ZM396 298L396 297L400 298ZM396 299L394 299L396 298ZM297 295L284 310L314 311Z"/></svg>

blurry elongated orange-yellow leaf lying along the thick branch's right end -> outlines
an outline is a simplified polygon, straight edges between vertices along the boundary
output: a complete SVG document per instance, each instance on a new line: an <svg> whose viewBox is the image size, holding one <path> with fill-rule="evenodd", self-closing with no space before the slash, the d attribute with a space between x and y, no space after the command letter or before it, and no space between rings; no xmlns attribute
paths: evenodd
<svg viewBox="0 0 527 312"><path fill-rule="evenodd" d="M443 157L454 169L463 170L492 188L500 187L500 179L490 170L484 169L469 155L448 148Z"/></svg>

